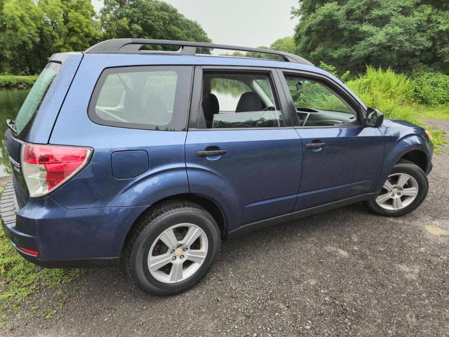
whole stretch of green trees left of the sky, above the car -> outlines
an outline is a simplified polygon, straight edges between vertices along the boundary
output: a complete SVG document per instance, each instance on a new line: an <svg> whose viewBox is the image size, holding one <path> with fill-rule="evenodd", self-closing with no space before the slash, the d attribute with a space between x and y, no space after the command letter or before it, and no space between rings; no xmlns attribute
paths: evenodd
<svg viewBox="0 0 449 337"><path fill-rule="evenodd" d="M0 0L0 73L33 75L53 53L83 51L107 38L210 42L196 21L163 1L104 5L100 22L91 0Z"/></svg>

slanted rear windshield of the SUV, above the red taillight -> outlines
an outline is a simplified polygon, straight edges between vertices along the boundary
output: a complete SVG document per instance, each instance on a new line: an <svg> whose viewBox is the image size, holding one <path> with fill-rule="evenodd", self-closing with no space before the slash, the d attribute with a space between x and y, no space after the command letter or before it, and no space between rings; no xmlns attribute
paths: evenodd
<svg viewBox="0 0 449 337"><path fill-rule="evenodd" d="M45 94L60 68L61 65L59 63L50 62L40 73L17 114L15 120L17 134L20 134L25 129L25 126L39 110Z"/></svg>

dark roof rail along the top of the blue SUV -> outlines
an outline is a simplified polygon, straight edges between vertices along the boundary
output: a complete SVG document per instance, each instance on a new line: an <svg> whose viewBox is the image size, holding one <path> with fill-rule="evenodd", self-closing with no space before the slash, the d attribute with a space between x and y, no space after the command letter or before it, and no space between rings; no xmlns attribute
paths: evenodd
<svg viewBox="0 0 449 337"><path fill-rule="evenodd" d="M141 48L146 45L176 46L181 47L181 49L179 51L145 51L145 50L141 51ZM195 55L197 52L197 48L225 49L231 51L251 51L261 54L278 55L282 57L284 61L313 66L313 64L307 61L305 58L284 51L273 51L270 49L219 45L215 43L193 42L193 41L150 40L150 39L132 39L132 38L112 39L97 43L95 46L90 47L85 52L90 54L102 54L102 53L134 54L138 52L142 53L149 52L159 54Z"/></svg>

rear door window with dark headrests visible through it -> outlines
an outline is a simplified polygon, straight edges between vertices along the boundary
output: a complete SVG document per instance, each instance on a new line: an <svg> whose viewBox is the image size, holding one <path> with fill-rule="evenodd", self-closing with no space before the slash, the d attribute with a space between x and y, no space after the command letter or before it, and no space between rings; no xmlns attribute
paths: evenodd
<svg viewBox="0 0 449 337"><path fill-rule="evenodd" d="M201 108L209 129L285 126L269 74L205 72Z"/></svg>

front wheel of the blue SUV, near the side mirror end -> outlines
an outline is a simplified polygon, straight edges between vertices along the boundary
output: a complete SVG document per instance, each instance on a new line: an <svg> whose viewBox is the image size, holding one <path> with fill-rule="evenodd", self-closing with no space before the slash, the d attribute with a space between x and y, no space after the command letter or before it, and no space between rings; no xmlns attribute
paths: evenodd
<svg viewBox="0 0 449 337"><path fill-rule="evenodd" d="M409 178L404 185L405 187L399 187L399 176L409 176ZM395 180L399 184L395 184ZM405 179L404 179L405 180ZM398 187L395 189L389 189L388 191L385 189L387 182L392 182L393 187ZM415 199L413 199L412 196L405 196L401 193L400 188L402 188L402 192L405 191L412 191L410 188L417 188L417 193L415 196ZM383 185L381 192L376 197L375 200L366 201L365 205L369 209L370 212L381 215L384 217L400 217L405 214L408 214L412 211L414 211L426 198L427 192L429 189L429 181L427 180L427 176L424 173L422 169L420 169L417 165L414 163L408 161L408 160L400 160L398 164L396 164L393 169L391 170L391 173L388 176L387 181L385 182L385 185ZM391 192L389 192L391 191ZM387 194L392 193L391 195L394 195L394 198L390 198L390 200L382 202L382 196L384 198L387 197ZM396 193L396 194L395 194ZM406 193L415 193L413 192L406 192ZM403 205L402 208L396 208L398 207L398 203L394 202L393 200L398 198L398 196L401 195L400 204ZM409 199L410 198L410 199ZM379 202L377 202L379 200ZM391 206L390 206L391 202Z"/></svg>

